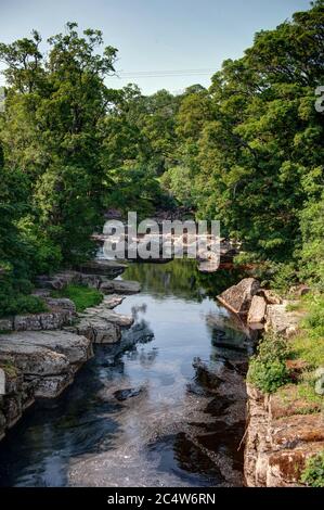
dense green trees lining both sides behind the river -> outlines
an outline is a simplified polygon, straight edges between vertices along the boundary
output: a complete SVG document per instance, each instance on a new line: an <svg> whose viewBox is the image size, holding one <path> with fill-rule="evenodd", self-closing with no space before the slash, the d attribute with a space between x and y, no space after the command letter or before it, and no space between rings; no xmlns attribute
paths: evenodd
<svg viewBox="0 0 324 510"><path fill-rule="evenodd" d="M274 284L324 284L323 0L180 95L107 88L117 50L99 30L69 23L41 46L37 31L0 43L0 314L36 309L36 273L92 256L112 207L185 206Z"/></svg>

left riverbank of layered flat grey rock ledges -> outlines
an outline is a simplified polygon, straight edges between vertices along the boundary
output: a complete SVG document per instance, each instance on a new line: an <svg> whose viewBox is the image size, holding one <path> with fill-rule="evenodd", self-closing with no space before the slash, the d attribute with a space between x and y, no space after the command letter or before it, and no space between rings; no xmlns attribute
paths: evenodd
<svg viewBox="0 0 324 510"><path fill-rule="evenodd" d="M93 356L93 344L120 344L121 331L130 328L133 319L113 308L122 302L124 294L140 292L137 282L109 280L126 267L93 262L81 268L87 272L39 277L34 295L42 299L47 311L0 319L0 368L4 374L0 441L36 399L56 398L73 383ZM68 289L74 291L75 302L65 297ZM86 310L82 302L88 305Z"/></svg>

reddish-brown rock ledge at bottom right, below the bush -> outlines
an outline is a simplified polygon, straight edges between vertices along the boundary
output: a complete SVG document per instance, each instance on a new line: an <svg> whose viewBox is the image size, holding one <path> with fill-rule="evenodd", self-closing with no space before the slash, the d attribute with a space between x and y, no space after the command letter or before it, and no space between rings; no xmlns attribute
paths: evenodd
<svg viewBox="0 0 324 510"><path fill-rule="evenodd" d="M324 450L324 415L247 384L244 473L249 487L298 487L306 461ZM308 413L304 413L304 412ZM299 413L298 413L299 412Z"/></svg>

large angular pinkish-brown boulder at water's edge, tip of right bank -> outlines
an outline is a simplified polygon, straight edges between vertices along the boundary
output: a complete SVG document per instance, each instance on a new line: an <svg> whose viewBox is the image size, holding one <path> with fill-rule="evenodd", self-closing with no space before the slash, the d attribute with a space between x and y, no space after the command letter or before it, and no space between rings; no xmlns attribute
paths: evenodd
<svg viewBox="0 0 324 510"><path fill-rule="evenodd" d="M234 314L247 315L252 297L260 289L255 278L245 278L218 296L218 301Z"/></svg>

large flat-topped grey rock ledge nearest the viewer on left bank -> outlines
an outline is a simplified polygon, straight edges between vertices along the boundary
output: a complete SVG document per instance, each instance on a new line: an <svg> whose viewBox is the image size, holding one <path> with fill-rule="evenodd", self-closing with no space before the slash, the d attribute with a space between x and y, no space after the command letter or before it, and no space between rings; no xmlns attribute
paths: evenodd
<svg viewBox="0 0 324 510"><path fill-rule="evenodd" d="M91 341L67 331L1 334L5 394L0 396L0 439L35 398L57 397L92 356Z"/></svg>

